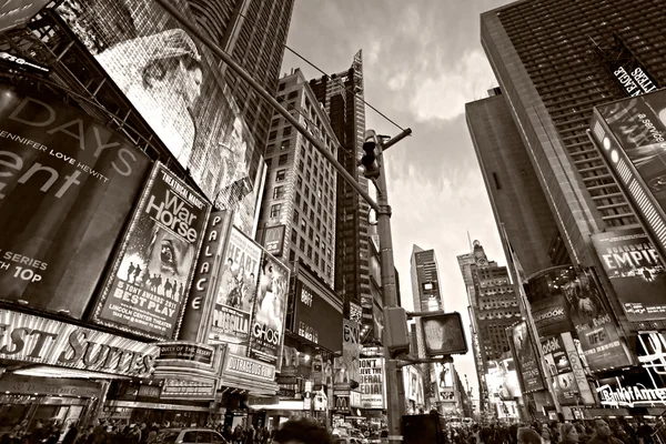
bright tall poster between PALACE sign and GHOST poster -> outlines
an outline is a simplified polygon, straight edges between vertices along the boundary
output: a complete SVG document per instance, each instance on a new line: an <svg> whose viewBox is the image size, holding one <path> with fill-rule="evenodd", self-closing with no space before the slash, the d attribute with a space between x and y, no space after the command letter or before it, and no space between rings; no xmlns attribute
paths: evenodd
<svg viewBox="0 0 666 444"><path fill-rule="evenodd" d="M261 246L231 229L218 273L211 343L229 343L236 354L248 353L250 319L260 276Z"/></svg>

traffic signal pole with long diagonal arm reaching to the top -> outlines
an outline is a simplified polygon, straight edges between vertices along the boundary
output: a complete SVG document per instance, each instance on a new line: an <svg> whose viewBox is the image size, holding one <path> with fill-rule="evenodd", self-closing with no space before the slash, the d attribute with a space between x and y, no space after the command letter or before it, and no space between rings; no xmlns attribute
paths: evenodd
<svg viewBox="0 0 666 444"><path fill-rule="evenodd" d="M280 113L289 123L292 124L312 145L333 165L345 180L376 212L377 214L377 232L380 236L380 258L382 262L382 291L384 294L384 305L389 307L397 306L397 291L395 287L395 269L393 262L393 238L391 234L391 205L389 204L389 195L386 188L385 170L374 181L377 188L377 202L375 202L365 189L356 182L356 180L337 162L337 159L324 147L324 144L311 134L297 119L295 119L287 110L285 110L268 91L259 84L252 75L250 75L231 56L224 52L215 42L204 36L196 26L175 8L170 0L155 0L173 19L175 19L191 36L201 41L210 51L219 57L229 69L243 79L250 88L252 88L263 100ZM382 150L387 150L393 144L400 142L404 138L412 134L411 129L403 130L400 134L384 142L379 138L379 143ZM383 169L384 159L380 158L380 168ZM404 412L404 394L402 393L402 384L398 381L397 361L391 359L389 350L385 350L385 377L386 377L386 413L389 423L389 441L398 443L403 441L401 435L401 417Z"/></svg>

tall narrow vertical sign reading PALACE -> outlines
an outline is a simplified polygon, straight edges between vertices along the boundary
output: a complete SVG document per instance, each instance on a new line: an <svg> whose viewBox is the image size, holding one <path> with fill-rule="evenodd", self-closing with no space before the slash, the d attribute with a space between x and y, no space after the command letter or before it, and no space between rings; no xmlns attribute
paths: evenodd
<svg viewBox="0 0 666 444"><path fill-rule="evenodd" d="M215 309L215 283L220 279L222 251L226 244L230 222L231 214L225 210L213 211L209 218L180 332L182 341L208 342L210 325L204 324L208 323L211 311Z"/></svg>

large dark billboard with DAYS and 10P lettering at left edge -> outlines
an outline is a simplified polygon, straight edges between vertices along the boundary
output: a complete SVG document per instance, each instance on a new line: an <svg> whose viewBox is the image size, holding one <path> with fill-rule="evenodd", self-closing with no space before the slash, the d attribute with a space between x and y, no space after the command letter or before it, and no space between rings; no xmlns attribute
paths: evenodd
<svg viewBox="0 0 666 444"><path fill-rule="evenodd" d="M0 84L0 300L81 319L150 169L123 137Z"/></svg>

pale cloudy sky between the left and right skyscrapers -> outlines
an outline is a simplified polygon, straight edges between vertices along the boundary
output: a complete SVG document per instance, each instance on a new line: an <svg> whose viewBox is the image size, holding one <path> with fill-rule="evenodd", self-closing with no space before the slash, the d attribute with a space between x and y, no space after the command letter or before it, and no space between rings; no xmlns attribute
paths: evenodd
<svg viewBox="0 0 666 444"><path fill-rule="evenodd" d="M413 310L412 246L434 249L444 310L463 314L467 294L456 256L478 240L490 260L506 264L465 123L465 103L497 85L481 47L480 14L508 0L295 0L287 47L326 73L349 69L363 50L365 101L412 137L386 151L394 261L403 306ZM282 73L314 68L285 52ZM400 129L371 109L366 128ZM467 341L470 332L467 330ZM471 349L471 344L470 344ZM472 352L454 357L477 397Z"/></svg>

